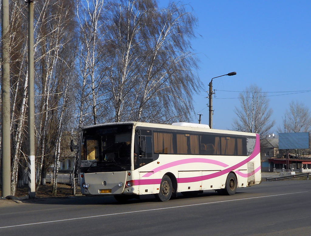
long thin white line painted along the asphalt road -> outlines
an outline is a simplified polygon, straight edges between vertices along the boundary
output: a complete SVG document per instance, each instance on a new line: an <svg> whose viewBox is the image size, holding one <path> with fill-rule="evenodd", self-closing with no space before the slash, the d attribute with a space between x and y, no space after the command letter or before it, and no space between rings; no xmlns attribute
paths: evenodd
<svg viewBox="0 0 311 236"><path fill-rule="evenodd" d="M44 222L29 223L29 224L22 224L22 225L2 226L2 227L0 227L0 229L12 228L12 227L18 227L18 226L27 226L27 225L39 225L39 224L55 223L55 222L62 222L62 221L74 221L74 220L96 218L96 217L102 217L102 216L123 215L123 214L137 213L137 212L159 211L159 210L172 209L172 208L200 206L200 205L207 205L207 204L213 204L213 203L233 202L233 201L249 200L249 199L256 199L256 198L267 198L267 197L275 197L275 196L297 194L297 193L307 193L307 192L309 192L309 191L295 192L295 193L285 193L285 194L276 194L276 195L268 195L268 196L253 197L253 198L231 199L231 200L217 201L217 202L210 202L210 203L197 203L197 204L191 204L191 205L183 205L183 206L176 206L176 207L166 207L166 208L156 208L156 209L148 209L148 210L140 210L140 211L132 211L132 212L120 212L120 213L112 213L112 214L105 214L105 215L98 215L98 216L85 216L85 217L71 218L71 219L65 219L65 220L44 221Z"/></svg>

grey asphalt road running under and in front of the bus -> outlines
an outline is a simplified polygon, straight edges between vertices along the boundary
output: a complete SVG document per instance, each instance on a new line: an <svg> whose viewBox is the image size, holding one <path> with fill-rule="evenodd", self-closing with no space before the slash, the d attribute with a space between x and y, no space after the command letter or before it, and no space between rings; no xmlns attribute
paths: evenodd
<svg viewBox="0 0 311 236"><path fill-rule="evenodd" d="M113 197L0 204L0 235L310 235L311 181L262 182L233 196L208 191L156 202Z"/></svg>

